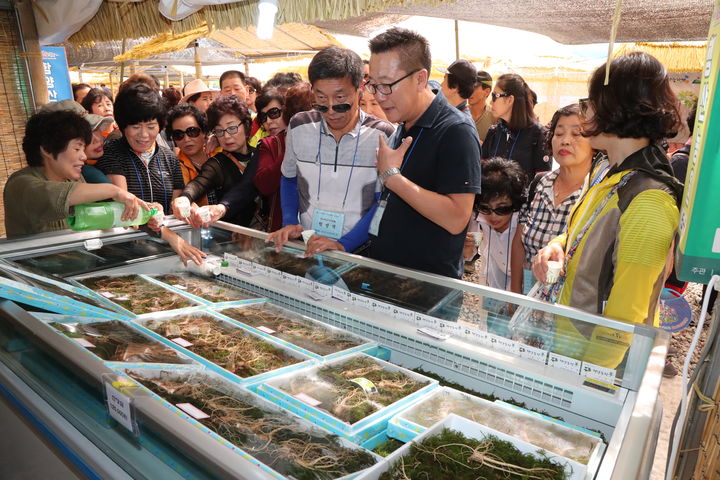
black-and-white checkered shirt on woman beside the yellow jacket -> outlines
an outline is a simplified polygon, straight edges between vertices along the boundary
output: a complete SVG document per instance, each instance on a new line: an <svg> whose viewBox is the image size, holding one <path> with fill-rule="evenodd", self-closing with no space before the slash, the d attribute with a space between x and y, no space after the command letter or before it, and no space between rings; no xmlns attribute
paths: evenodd
<svg viewBox="0 0 720 480"><path fill-rule="evenodd" d="M580 187L556 207L554 185L559 174L559 170L554 170L543 176L537 183L535 197L529 199L520 211L525 268L530 268L538 250L565 231L570 210L582 193L583 187Z"/></svg>

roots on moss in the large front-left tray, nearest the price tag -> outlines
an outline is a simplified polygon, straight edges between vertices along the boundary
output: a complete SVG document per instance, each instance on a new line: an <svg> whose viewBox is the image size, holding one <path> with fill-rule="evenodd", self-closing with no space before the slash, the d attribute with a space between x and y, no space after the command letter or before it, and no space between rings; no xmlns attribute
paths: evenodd
<svg viewBox="0 0 720 480"><path fill-rule="evenodd" d="M227 395L196 381L130 375L172 404L190 403L208 418L198 420L288 478L331 480L372 466L367 451L343 446L334 435L310 430L294 418L259 407L249 396Z"/></svg>

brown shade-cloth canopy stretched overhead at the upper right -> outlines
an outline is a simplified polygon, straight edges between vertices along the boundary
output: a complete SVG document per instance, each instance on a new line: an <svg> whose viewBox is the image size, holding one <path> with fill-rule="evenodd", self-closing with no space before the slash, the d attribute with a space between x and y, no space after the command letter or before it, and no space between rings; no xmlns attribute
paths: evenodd
<svg viewBox="0 0 720 480"><path fill-rule="evenodd" d="M367 36L396 15L422 15L517 28L565 44L604 43L610 37L615 0L457 0L438 5L388 2L383 15L313 21L326 30ZM710 0L623 0L617 42L707 40ZM423 33L423 32L420 32ZM485 38L478 42L502 41Z"/></svg>

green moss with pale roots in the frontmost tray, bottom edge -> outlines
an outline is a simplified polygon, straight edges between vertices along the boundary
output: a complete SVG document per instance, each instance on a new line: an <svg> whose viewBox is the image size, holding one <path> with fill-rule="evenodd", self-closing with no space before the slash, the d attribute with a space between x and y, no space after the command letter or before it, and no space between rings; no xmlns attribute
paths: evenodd
<svg viewBox="0 0 720 480"><path fill-rule="evenodd" d="M544 453L522 453L511 442L488 435L482 440L443 429L413 443L380 480L565 480L562 465Z"/></svg>

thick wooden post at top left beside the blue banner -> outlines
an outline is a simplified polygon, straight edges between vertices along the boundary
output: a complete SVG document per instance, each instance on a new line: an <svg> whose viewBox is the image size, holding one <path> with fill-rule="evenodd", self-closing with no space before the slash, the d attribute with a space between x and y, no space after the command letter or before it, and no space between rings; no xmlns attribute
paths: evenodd
<svg viewBox="0 0 720 480"><path fill-rule="evenodd" d="M37 108L49 103L50 96L45 81L45 69L42 64L42 52L40 51L35 15L30 0L15 2L15 13L20 30L21 55L25 58L28 72L30 93L32 95L31 101L33 107Z"/></svg>

